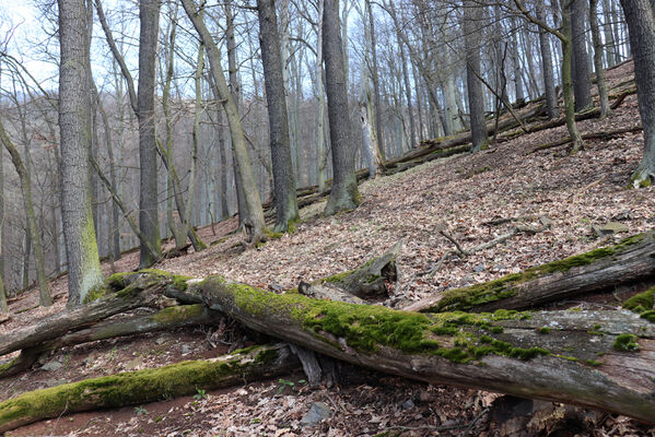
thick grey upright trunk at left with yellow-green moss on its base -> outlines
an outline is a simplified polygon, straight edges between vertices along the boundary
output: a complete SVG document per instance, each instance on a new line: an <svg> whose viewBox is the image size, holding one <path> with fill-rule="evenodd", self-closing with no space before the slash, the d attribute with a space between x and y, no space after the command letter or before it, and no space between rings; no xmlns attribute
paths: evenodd
<svg viewBox="0 0 655 437"><path fill-rule="evenodd" d="M59 129L61 137L61 210L68 259L69 308L80 306L103 284L92 214L90 178L90 48L84 0L59 1L61 62ZM97 145L97 144L96 144Z"/></svg>

